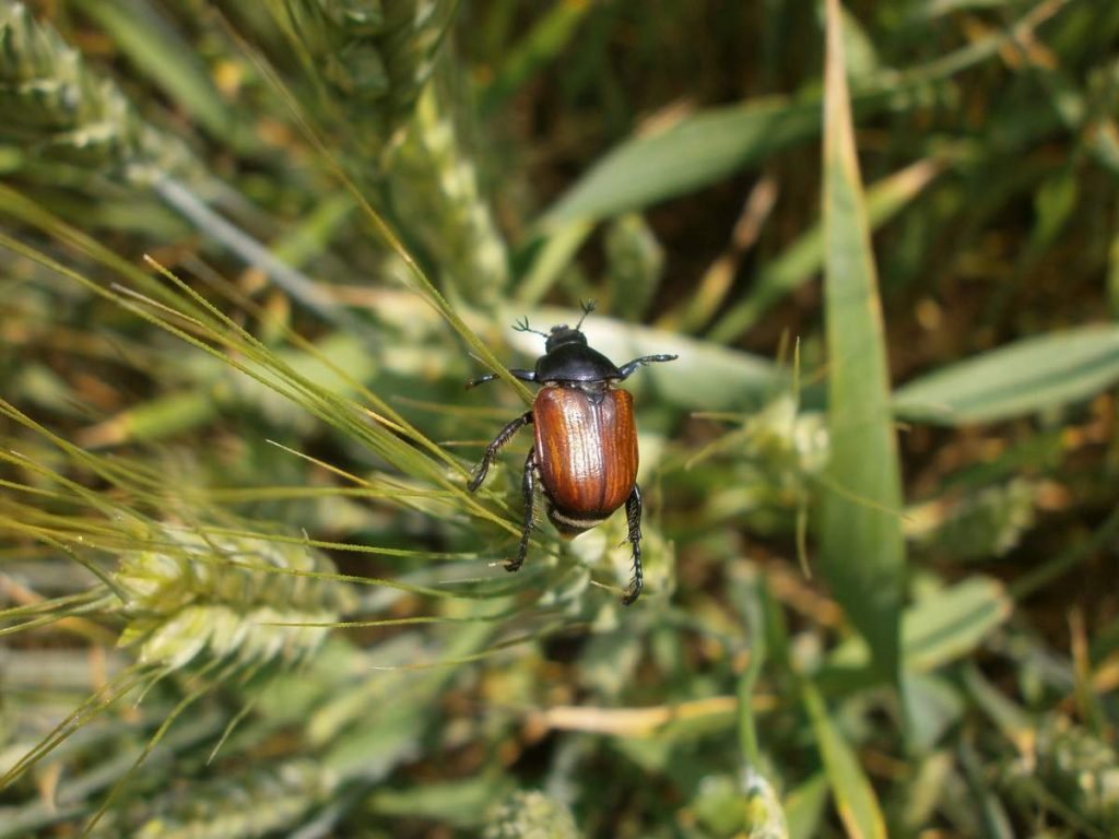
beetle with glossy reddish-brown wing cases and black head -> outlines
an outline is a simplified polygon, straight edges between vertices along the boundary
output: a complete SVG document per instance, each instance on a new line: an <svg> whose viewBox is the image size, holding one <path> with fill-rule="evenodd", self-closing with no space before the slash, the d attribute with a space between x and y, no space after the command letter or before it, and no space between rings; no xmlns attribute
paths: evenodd
<svg viewBox="0 0 1119 839"><path fill-rule="evenodd" d="M525 425L532 424L536 440L525 460L521 493L525 524L517 555L506 563L506 571L518 571L528 553L528 540L536 527L536 488L539 484L548 518L560 535L572 539L605 521L623 503L629 526L627 541L633 555L633 574L622 597L627 606L641 594L641 490L637 486L637 427L633 424L633 398L615 387L638 368L674 361L677 356L642 356L617 367L586 342L583 321L594 311L594 303L583 303L583 317L574 328L565 323L549 332L530 329L528 320L518 322L518 332L544 337L544 355L532 370L513 368L521 381L543 387L528 411L493 437L474 470L468 489L481 487L498 452ZM492 381L490 373L467 384L468 388Z"/></svg>

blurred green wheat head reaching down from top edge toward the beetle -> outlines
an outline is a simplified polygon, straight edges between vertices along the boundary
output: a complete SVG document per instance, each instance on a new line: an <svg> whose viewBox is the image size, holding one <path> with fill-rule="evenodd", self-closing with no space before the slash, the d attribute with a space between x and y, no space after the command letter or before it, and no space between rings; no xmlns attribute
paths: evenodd
<svg viewBox="0 0 1119 839"><path fill-rule="evenodd" d="M387 183L399 229L438 267L444 287L491 307L508 284L507 248L436 69L454 2L283 0L290 39L336 111L358 177ZM328 112L331 109L327 109ZM328 119L330 115L328 114Z"/></svg>

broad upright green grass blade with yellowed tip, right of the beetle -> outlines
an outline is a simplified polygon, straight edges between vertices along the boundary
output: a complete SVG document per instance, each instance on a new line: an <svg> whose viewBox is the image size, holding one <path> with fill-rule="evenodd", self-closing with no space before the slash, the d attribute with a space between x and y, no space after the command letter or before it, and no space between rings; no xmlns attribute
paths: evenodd
<svg viewBox="0 0 1119 839"><path fill-rule="evenodd" d="M905 569L901 479L881 302L852 124L838 0L829 0L824 104L825 311L833 456L820 555L878 672L899 684Z"/></svg>

